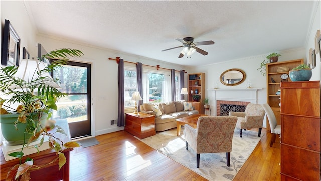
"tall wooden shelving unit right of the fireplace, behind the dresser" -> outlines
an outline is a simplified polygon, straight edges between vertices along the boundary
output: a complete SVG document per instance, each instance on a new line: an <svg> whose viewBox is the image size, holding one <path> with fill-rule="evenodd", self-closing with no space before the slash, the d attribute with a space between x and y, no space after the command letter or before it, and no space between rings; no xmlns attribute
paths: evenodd
<svg viewBox="0 0 321 181"><path fill-rule="evenodd" d="M300 64L303 64L303 59L297 59L297 60L290 60L290 61L282 61L282 62L275 62L275 63L269 63L266 64L266 94L267 94L267 104L270 105L272 108L274 115L277 119L277 124L281 124L281 115L280 115L280 95L276 95L276 92L280 89L280 82L281 82L281 75L286 73L289 74L289 72L278 72L277 69L279 67L288 67L289 70L292 68L297 67ZM272 78L275 81L272 82ZM287 81L291 81L290 78L287 79ZM271 131L270 124L268 121L266 121L266 130L268 132Z"/></svg>

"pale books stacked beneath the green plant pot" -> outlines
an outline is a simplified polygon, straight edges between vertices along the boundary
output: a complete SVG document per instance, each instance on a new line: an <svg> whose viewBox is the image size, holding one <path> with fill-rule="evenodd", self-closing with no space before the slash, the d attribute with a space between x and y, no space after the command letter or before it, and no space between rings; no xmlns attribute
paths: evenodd
<svg viewBox="0 0 321 181"><path fill-rule="evenodd" d="M9 161L9 160L12 160L12 159L16 159L16 157L13 157L13 156L9 156L8 154L10 153L13 153L13 152L18 152L18 151L21 151L21 148L22 148L22 145L14 145L14 146L10 146L8 145L8 142L6 140L3 140L3 145L2 145L2 152L4 154L4 157L5 157L5 160L6 161ZM37 141L34 141L32 143L30 143L28 145L28 148L25 146L24 147L24 156L26 155L30 155L30 154L33 154L33 153L37 153L37 149L34 147L35 145L38 145L38 150L39 151L44 151L44 150L47 150L47 149L50 149L49 147L49 140L48 140L48 137L45 136L44 138L44 142L41 146L40 145L40 140L37 140Z"/></svg>

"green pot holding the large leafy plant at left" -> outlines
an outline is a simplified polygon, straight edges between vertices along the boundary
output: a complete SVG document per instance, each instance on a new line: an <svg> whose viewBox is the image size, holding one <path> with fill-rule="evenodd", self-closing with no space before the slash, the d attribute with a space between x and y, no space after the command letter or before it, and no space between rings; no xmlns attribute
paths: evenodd
<svg viewBox="0 0 321 181"><path fill-rule="evenodd" d="M45 125L48 114L42 113L42 117L40 118L41 125ZM27 124L18 123L17 128L15 129L14 122L17 121L19 114L6 114L0 116L0 124L1 124L1 132L5 140L8 142L8 145L21 145L24 143L24 132ZM35 124L38 124L38 115L37 113L33 113L33 120L35 120ZM31 134L26 133L25 143L28 142Z"/></svg>

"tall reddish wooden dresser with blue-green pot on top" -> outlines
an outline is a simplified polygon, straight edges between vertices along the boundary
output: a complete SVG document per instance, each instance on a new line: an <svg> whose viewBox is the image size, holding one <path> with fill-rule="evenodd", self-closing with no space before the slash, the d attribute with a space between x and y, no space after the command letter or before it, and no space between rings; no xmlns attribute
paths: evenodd
<svg viewBox="0 0 321 181"><path fill-rule="evenodd" d="M320 180L320 81L280 88L281 180Z"/></svg>

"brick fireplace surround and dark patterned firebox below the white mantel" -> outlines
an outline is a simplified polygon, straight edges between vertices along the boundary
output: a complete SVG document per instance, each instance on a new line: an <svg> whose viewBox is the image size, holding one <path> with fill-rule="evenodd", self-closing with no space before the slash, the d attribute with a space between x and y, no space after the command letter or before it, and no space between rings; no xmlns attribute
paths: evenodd
<svg viewBox="0 0 321 181"><path fill-rule="evenodd" d="M223 101L216 100L216 115L227 116L230 111L244 112L248 101Z"/></svg>

